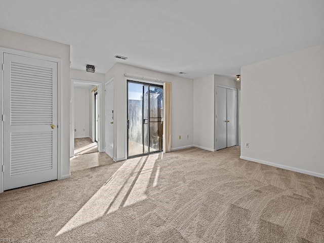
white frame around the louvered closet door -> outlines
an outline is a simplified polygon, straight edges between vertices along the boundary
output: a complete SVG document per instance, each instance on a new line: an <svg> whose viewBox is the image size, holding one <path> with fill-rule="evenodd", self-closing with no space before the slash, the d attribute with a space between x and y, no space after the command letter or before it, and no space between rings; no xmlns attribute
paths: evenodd
<svg viewBox="0 0 324 243"><path fill-rule="evenodd" d="M0 69L1 75L0 75L0 193L4 192L4 172L3 172L3 166L4 166L4 147L3 147L3 139L4 139L4 121L3 121L3 106L4 106L4 70L3 70L3 63L4 63L4 53L9 53L13 55L18 55L18 56L24 56L24 57L29 57L29 58L34 58L34 59L40 59L40 60L45 60L45 61L50 61L50 62L55 62L57 63L57 180L61 180L62 178L62 151L61 151L61 144L62 141L62 129L61 129L61 116L62 116L62 61L60 58L57 57L49 57L45 55L40 55L40 54L34 54L30 52L24 52L24 51L19 51L15 49L10 49L10 48L4 48L0 47L0 60L2 64L2 68Z"/></svg>

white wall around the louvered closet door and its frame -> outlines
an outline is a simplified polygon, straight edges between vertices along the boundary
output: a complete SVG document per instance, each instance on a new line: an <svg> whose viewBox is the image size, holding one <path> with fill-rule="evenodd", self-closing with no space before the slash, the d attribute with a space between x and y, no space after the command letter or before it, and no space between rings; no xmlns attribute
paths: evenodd
<svg viewBox="0 0 324 243"><path fill-rule="evenodd" d="M0 47L57 57L62 60L61 81L61 128L58 128L61 141L58 142L61 150L62 167L59 177L62 179L70 177L69 160L69 123L70 123L70 46L47 39L20 34L17 32L0 29Z"/></svg>

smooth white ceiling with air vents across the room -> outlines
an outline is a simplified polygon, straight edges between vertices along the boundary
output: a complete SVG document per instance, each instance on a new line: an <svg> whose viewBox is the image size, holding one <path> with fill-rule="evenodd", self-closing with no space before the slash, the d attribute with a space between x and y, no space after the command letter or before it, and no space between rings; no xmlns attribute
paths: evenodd
<svg viewBox="0 0 324 243"><path fill-rule="evenodd" d="M323 0L0 0L0 28L71 45L71 67L124 62L186 77L324 43ZM114 58L118 54L129 59Z"/></svg>

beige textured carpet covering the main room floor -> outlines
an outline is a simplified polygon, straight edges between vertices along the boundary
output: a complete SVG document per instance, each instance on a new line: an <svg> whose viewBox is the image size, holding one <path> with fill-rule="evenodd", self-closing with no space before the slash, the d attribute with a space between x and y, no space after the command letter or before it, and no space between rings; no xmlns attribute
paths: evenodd
<svg viewBox="0 0 324 243"><path fill-rule="evenodd" d="M239 147L77 171L4 192L0 209L0 237L27 242L324 242L324 180Z"/></svg>

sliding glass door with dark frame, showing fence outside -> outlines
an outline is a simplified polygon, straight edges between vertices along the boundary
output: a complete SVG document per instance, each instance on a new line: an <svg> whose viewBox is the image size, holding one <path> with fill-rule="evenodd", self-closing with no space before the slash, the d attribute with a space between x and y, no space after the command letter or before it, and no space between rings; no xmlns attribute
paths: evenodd
<svg viewBox="0 0 324 243"><path fill-rule="evenodd" d="M163 151L163 86L128 80L128 157Z"/></svg>

